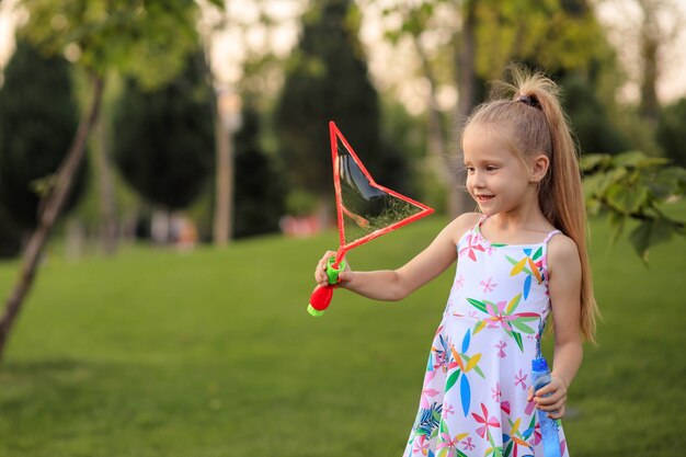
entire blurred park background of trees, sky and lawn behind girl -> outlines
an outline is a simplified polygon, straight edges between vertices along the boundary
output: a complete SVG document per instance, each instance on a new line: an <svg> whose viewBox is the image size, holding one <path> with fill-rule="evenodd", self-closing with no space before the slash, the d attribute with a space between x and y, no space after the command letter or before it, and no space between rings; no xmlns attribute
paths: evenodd
<svg viewBox="0 0 686 457"><path fill-rule="evenodd" d="M307 316L328 123L437 210L352 253L399 266L473 209L460 125L512 61L561 85L584 158L605 320L571 450L677 455L685 24L685 0L0 1L0 456L399 455L450 273Z"/></svg>

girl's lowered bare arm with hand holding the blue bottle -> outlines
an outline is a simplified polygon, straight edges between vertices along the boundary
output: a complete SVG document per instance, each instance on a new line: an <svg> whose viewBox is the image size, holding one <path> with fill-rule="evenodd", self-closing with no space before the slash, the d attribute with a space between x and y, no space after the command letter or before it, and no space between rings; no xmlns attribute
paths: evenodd
<svg viewBox="0 0 686 457"><path fill-rule="evenodd" d="M539 409L550 416L564 415L567 391L583 358L581 340L581 262L576 244L563 236L553 237L548 247L548 289L554 328L554 354L550 384L537 392ZM542 397L551 393L550 397ZM529 398L533 396L529 395Z"/></svg>

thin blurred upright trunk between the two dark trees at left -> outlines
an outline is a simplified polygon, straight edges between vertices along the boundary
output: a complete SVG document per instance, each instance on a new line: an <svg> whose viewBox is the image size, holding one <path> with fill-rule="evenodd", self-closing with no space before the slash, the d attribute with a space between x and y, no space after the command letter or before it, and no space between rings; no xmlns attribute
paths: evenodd
<svg viewBox="0 0 686 457"><path fill-rule="evenodd" d="M112 162L107 147L106 125L101 117L95 125L95 167L100 197L100 239L105 254L113 255L117 248L117 220L112 180Z"/></svg>

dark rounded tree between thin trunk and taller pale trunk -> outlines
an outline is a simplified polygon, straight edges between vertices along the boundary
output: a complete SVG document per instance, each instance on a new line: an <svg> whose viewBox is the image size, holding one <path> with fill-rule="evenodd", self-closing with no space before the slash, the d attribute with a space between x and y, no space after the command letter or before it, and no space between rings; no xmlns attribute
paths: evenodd
<svg viewBox="0 0 686 457"><path fill-rule="evenodd" d="M204 58L156 90L125 84L114 113L113 159L124 179L149 202L185 208L209 176L214 157L213 89Z"/></svg>

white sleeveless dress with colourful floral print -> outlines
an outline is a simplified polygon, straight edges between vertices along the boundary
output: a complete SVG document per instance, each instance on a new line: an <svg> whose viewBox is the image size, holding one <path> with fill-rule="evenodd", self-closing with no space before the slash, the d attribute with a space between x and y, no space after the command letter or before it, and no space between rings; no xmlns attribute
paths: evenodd
<svg viewBox="0 0 686 457"><path fill-rule="evenodd" d="M403 457L542 457L531 359L550 312L541 243L483 238L482 217L458 243L458 264L436 331L419 413ZM561 455L569 457L562 427Z"/></svg>

